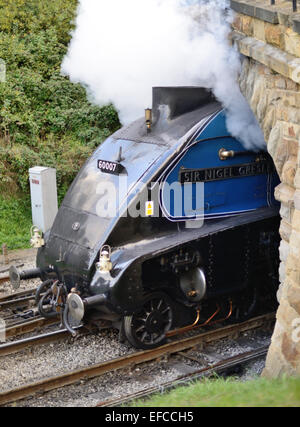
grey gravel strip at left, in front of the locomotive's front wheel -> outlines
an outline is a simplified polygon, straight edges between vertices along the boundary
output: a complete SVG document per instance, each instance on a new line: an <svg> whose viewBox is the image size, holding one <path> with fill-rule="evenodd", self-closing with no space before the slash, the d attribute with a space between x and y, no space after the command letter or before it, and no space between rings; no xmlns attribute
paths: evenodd
<svg viewBox="0 0 300 427"><path fill-rule="evenodd" d="M119 343L115 330L29 348L1 359L1 391L121 357L128 352L129 348Z"/></svg>

